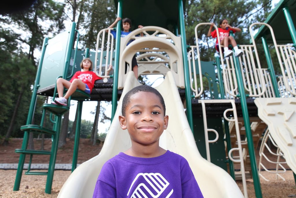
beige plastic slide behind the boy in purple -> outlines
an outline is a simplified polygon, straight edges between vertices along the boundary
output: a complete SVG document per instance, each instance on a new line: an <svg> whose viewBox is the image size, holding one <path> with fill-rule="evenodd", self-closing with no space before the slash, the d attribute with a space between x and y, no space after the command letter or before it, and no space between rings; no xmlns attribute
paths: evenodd
<svg viewBox="0 0 296 198"><path fill-rule="evenodd" d="M140 84L133 72L129 72L101 152L75 169L65 182L58 197L92 197L103 164L119 152L126 151L131 147L128 132L120 128L117 118L121 114L123 96L137 85ZM168 129L160 137L160 146L178 153L188 160L204 197L244 197L227 172L203 159L198 152L175 80L170 71L163 83L156 89L165 100L166 114L169 116Z"/></svg>

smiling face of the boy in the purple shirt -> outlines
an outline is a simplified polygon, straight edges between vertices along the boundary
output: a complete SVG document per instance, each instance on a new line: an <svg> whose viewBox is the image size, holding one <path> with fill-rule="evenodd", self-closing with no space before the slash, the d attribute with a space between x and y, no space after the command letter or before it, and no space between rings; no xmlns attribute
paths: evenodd
<svg viewBox="0 0 296 198"><path fill-rule="evenodd" d="M131 96L125 116L119 116L122 129L128 129L132 143L152 145L159 142L168 127L160 99L154 93L139 91Z"/></svg>

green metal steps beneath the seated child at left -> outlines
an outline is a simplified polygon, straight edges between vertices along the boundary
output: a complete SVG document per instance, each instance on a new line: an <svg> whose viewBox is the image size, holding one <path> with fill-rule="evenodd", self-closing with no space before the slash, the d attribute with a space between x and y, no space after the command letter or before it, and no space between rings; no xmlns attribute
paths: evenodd
<svg viewBox="0 0 296 198"><path fill-rule="evenodd" d="M20 129L23 132L25 132L25 134L24 134L24 139L23 139L23 143L22 143L22 148L15 150L16 153L20 153L20 160L19 160L19 164L18 164L14 190L19 189L20 181L21 181L21 177L22 177L22 172L23 172L23 167L24 167L24 163L25 163L25 156L30 155L28 170L25 172L25 175L47 175L45 192L49 193L49 194L51 193L62 115L65 114L67 111L69 111L70 100L73 99L73 100L78 100L78 105L79 105L78 107L80 109L78 116L80 116L80 118L81 118L82 102L86 99L89 99L89 98L90 98L89 94L86 94L84 91L81 91L81 90L76 90L73 93L73 95L69 98L67 106L56 105L56 104L47 104L47 103L43 104L43 106L42 106L43 113L42 113L40 125L28 124L28 125L21 126ZM53 129L49 129L49 128L44 127L44 120L45 120L45 116L47 115L47 113L50 113L49 118L50 118L50 121L53 123ZM52 117L54 117L54 119L52 119ZM79 123L79 125L78 125L79 127L77 128L77 126L76 126L72 170L74 170L76 168L76 164L77 164L80 122L78 122L78 123ZM51 137L52 137L51 151L27 149L29 133L51 135ZM39 172L39 171L32 171L31 170L31 164L32 164L32 160L33 160L34 155L49 155L49 168L48 168L47 172Z"/></svg>

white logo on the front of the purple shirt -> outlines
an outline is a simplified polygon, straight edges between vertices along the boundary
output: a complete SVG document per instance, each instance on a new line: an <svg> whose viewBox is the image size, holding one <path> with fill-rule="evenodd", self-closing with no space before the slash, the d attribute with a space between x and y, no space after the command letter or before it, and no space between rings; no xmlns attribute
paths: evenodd
<svg viewBox="0 0 296 198"><path fill-rule="evenodd" d="M150 195L153 198L157 198L163 194L165 189L170 185L168 181L160 173L139 173L133 180L130 189L128 190L129 195L133 185L137 183L138 186L131 194L131 197L147 197ZM144 181L143 181L144 180ZM173 194L173 189L166 195L166 198ZM148 198L148 197L147 197Z"/></svg>

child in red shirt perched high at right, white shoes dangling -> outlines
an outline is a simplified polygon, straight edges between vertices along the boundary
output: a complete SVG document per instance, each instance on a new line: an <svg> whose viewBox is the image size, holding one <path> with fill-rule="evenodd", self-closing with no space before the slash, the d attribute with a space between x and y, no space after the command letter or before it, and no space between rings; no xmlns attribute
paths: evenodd
<svg viewBox="0 0 296 198"><path fill-rule="evenodd" d="M217 37L217 31L214 30L212 31L214 23L211 24L209 32L207 33L207 36L212 36L213 38ZM241 29L240 28L235 28L235 27L231 27L228 24L228 21L226 19L222 19L219 22L219 39L220 39L220 43L224 46L224 49L222 49L222 52L224 51L224 58L229 57L232 55L232 50L228 49L228 44L229 41L231 43L231 45L233 46L234 49L234 55L236 57L242 56L244 53L242 52L242 50L240 50L237 47L237 43L235 42L234 38L232 36L229 36L229 32L233 31L233 33L235 32L240 32ZM218 37L216 40L216 50L219 51L219 44L218 44Z"/></svg>

